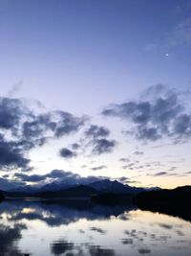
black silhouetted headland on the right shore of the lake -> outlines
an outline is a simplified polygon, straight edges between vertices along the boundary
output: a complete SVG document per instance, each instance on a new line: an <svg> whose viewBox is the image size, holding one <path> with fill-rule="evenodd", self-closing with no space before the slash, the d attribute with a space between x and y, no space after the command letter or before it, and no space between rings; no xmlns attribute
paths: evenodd
<svg viewBox="0 0 191 256"><path fill-rule="evenodd" d="M191 221L191 186L173 190L159 190L139 193L134 202L141 210L164 213Z"/></svg>

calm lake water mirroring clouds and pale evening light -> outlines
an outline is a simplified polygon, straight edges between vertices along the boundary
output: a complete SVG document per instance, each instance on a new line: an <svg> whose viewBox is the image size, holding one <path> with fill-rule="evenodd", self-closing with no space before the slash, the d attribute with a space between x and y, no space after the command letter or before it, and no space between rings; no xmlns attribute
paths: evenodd
<svg viewBox="0 0 191 256"><path fill-rule="evenodd" d="M134 206L0 204L0 256L191 255L191 222Z"/></svg>

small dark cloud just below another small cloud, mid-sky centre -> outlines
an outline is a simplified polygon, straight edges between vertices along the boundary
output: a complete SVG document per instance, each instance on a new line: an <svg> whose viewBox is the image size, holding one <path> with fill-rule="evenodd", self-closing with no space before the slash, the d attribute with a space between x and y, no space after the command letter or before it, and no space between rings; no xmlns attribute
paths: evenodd
<svg viewBox="0 0 191 256"><path fill-rule="evenodd" d="M112 152L117 145L115 140L108 139L95 139L92 141L93 144L93 153L102 154Z"/></svg>

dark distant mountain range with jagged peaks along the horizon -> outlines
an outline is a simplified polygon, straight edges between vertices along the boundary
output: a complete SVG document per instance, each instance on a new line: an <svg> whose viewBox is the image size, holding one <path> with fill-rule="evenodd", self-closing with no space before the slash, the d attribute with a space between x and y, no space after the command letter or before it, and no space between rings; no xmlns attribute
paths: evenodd
<svg viewBox="0 0 191 256"><path fill-rule="evenodd" d="M70 187L68 187L70 186ZM117 180L112 181L109 179L102 179L88 184L80 185L66 185L63 183L63 187L59 183L56 186L55 183L47 184L41 188L24 186L13 191L6 191L4 195L6 197L42 197L42 198L63 198L63 197L92 197L94 195L103 193L115 193L115 194L131 194L135 195L142 191L147 191L147 188L137 188L124 185ZM149 188L149 190L156 190L157 188Z"/></svg>

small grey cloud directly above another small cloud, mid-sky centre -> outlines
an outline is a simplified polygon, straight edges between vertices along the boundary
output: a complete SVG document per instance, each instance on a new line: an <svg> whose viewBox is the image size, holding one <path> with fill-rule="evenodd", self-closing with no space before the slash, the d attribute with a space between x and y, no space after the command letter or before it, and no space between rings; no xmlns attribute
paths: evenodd
<svg viewBox="0 0 191 256"><path fill-rule="evenodd" d="M110 135L110 131L108 128L92 125L85 131L85 135L88 137L93 137L95 139L106 138Z"/></svg>

